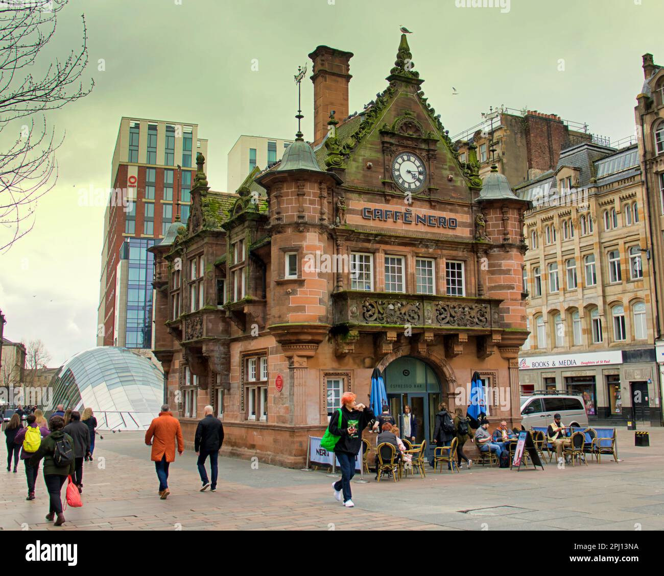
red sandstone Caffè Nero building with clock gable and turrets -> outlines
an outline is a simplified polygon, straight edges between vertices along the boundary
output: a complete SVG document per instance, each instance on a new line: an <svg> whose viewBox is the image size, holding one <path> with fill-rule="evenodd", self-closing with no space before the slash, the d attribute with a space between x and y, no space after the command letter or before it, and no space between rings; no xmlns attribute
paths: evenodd
<svg viewBox="0 0 664 576"><path fill-rule="evenodd" d="M499 391L491 419L518 425L530 202L496 169L482 181L473 145L459 161L405 35L388 86L350 116L353 54L309 56L317 145L297 133L232 196L199 155L187 226L150 249L154 352L187 445L211 403L226 453L299 467L343 392L369 403L376 367L429 444L475 371Z"/></svg>

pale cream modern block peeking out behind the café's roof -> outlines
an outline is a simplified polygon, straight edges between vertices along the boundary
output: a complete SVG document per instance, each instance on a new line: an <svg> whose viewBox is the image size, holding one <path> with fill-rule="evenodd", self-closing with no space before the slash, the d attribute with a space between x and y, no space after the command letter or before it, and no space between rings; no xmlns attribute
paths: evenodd
<svg viewBox="0 0 664 576"><path fill-rule="evenodd" d="M258 166L265 169L282 159L292 140L245 136L238 138L228 153L226 184L228 192L235 192L249 173ZM203 153L205 156L205 152Z"/></svg>

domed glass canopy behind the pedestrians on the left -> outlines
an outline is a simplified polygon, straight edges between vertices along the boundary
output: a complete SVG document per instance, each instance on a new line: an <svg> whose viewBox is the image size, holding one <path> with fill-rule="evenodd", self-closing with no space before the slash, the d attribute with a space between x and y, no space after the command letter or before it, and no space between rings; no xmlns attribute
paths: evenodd
<svg viewBox="0 0 664 576"><path fill-rule="evenodd" d="M148 358L114 346L79 352L60 368L50 407L94 411L102 430L144 430L163 403L163 372Z"/></svg>

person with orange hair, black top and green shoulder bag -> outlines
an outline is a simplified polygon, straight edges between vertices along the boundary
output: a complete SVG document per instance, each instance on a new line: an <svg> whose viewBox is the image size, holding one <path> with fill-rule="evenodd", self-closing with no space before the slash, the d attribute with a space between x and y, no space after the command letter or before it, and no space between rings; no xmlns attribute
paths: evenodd
<svg viewBox="0 0 664 576"><path fill-rule="evenodd" d="M362 447L362 431L374 419L373 410L364 404L356 404L357 396L353 392L345 392L341 396L341 408L333 413L327 429L330 434L339 436L334 453L339 460L341 480L333 482L334 497L341 502L343 490L343 505L353 508L351 494L351 479L355 476L355 457ZM339 425L341 413L341 426Z"/></svg>

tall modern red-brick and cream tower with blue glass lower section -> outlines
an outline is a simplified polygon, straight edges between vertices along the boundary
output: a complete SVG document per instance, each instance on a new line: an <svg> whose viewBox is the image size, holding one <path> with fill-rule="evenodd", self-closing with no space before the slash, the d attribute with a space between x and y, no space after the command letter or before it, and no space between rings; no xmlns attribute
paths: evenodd
<svg viewBox="0 0 664 576"><path fill-rule="evenodd" d="M189 218L197 124L122 117L104 214L98 346L151 348L153 257L177 216Z"/></svg>

